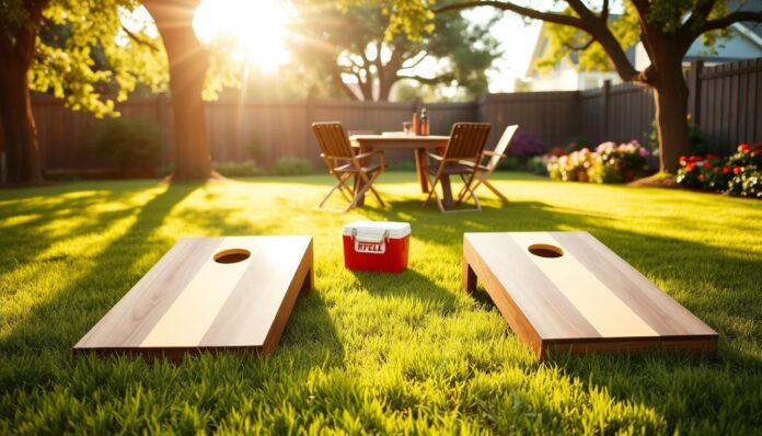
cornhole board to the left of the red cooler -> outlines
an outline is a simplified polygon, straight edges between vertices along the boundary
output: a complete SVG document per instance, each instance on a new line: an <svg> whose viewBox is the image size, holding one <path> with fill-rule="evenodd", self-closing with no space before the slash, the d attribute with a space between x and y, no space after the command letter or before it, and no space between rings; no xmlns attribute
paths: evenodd
<svg viewBox="0 0 762 436"><path fill-rule="evenodd" d="M312 283L312 237L182 239L73 352L270 354Z"/></svg>

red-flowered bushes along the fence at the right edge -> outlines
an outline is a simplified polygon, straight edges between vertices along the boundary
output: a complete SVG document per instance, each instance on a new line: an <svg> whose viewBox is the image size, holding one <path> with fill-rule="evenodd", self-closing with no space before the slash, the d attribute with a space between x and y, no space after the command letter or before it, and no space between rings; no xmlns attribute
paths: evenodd
<svg viewBox="0 0 762 436"><path fill-rule="evenodd" d="M677 182L686 187L762 199L762 142L741 144L736 154L680 158Z"/></svg>

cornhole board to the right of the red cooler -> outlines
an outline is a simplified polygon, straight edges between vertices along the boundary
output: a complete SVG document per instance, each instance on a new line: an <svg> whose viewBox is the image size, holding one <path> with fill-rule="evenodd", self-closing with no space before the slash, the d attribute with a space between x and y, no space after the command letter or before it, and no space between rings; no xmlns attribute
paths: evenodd
<svg viewBox="0 0 762 436"><path fill-rule="evenodd" d="M717 349L717 332L588 232L465 233L463 287L477 278L540 360L549 351Z"/></svg>

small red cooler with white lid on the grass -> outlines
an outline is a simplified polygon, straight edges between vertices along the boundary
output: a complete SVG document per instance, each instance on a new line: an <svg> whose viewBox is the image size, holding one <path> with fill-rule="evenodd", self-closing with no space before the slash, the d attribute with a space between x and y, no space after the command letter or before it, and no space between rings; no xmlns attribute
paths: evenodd
<svg viewBox="0 0 762 436"><path fill-rule="evenodd" d="M407 267L409 239L409 222L350 222L344 226L344 266L400 273Z"/></svg>

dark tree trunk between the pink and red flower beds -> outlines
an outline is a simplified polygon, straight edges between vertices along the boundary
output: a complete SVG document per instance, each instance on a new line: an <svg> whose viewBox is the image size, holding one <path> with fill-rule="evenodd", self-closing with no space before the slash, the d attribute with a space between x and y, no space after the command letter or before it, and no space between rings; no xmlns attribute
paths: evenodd
<svg viewBox="0 0 762 436"><path fill-rule="evenodd" d="M659 137L659 170L674 174L681 156L691 152L688 134L688 85L682 73L681 58L674 68L659 71L654 85L657 134Z"/></svg>

